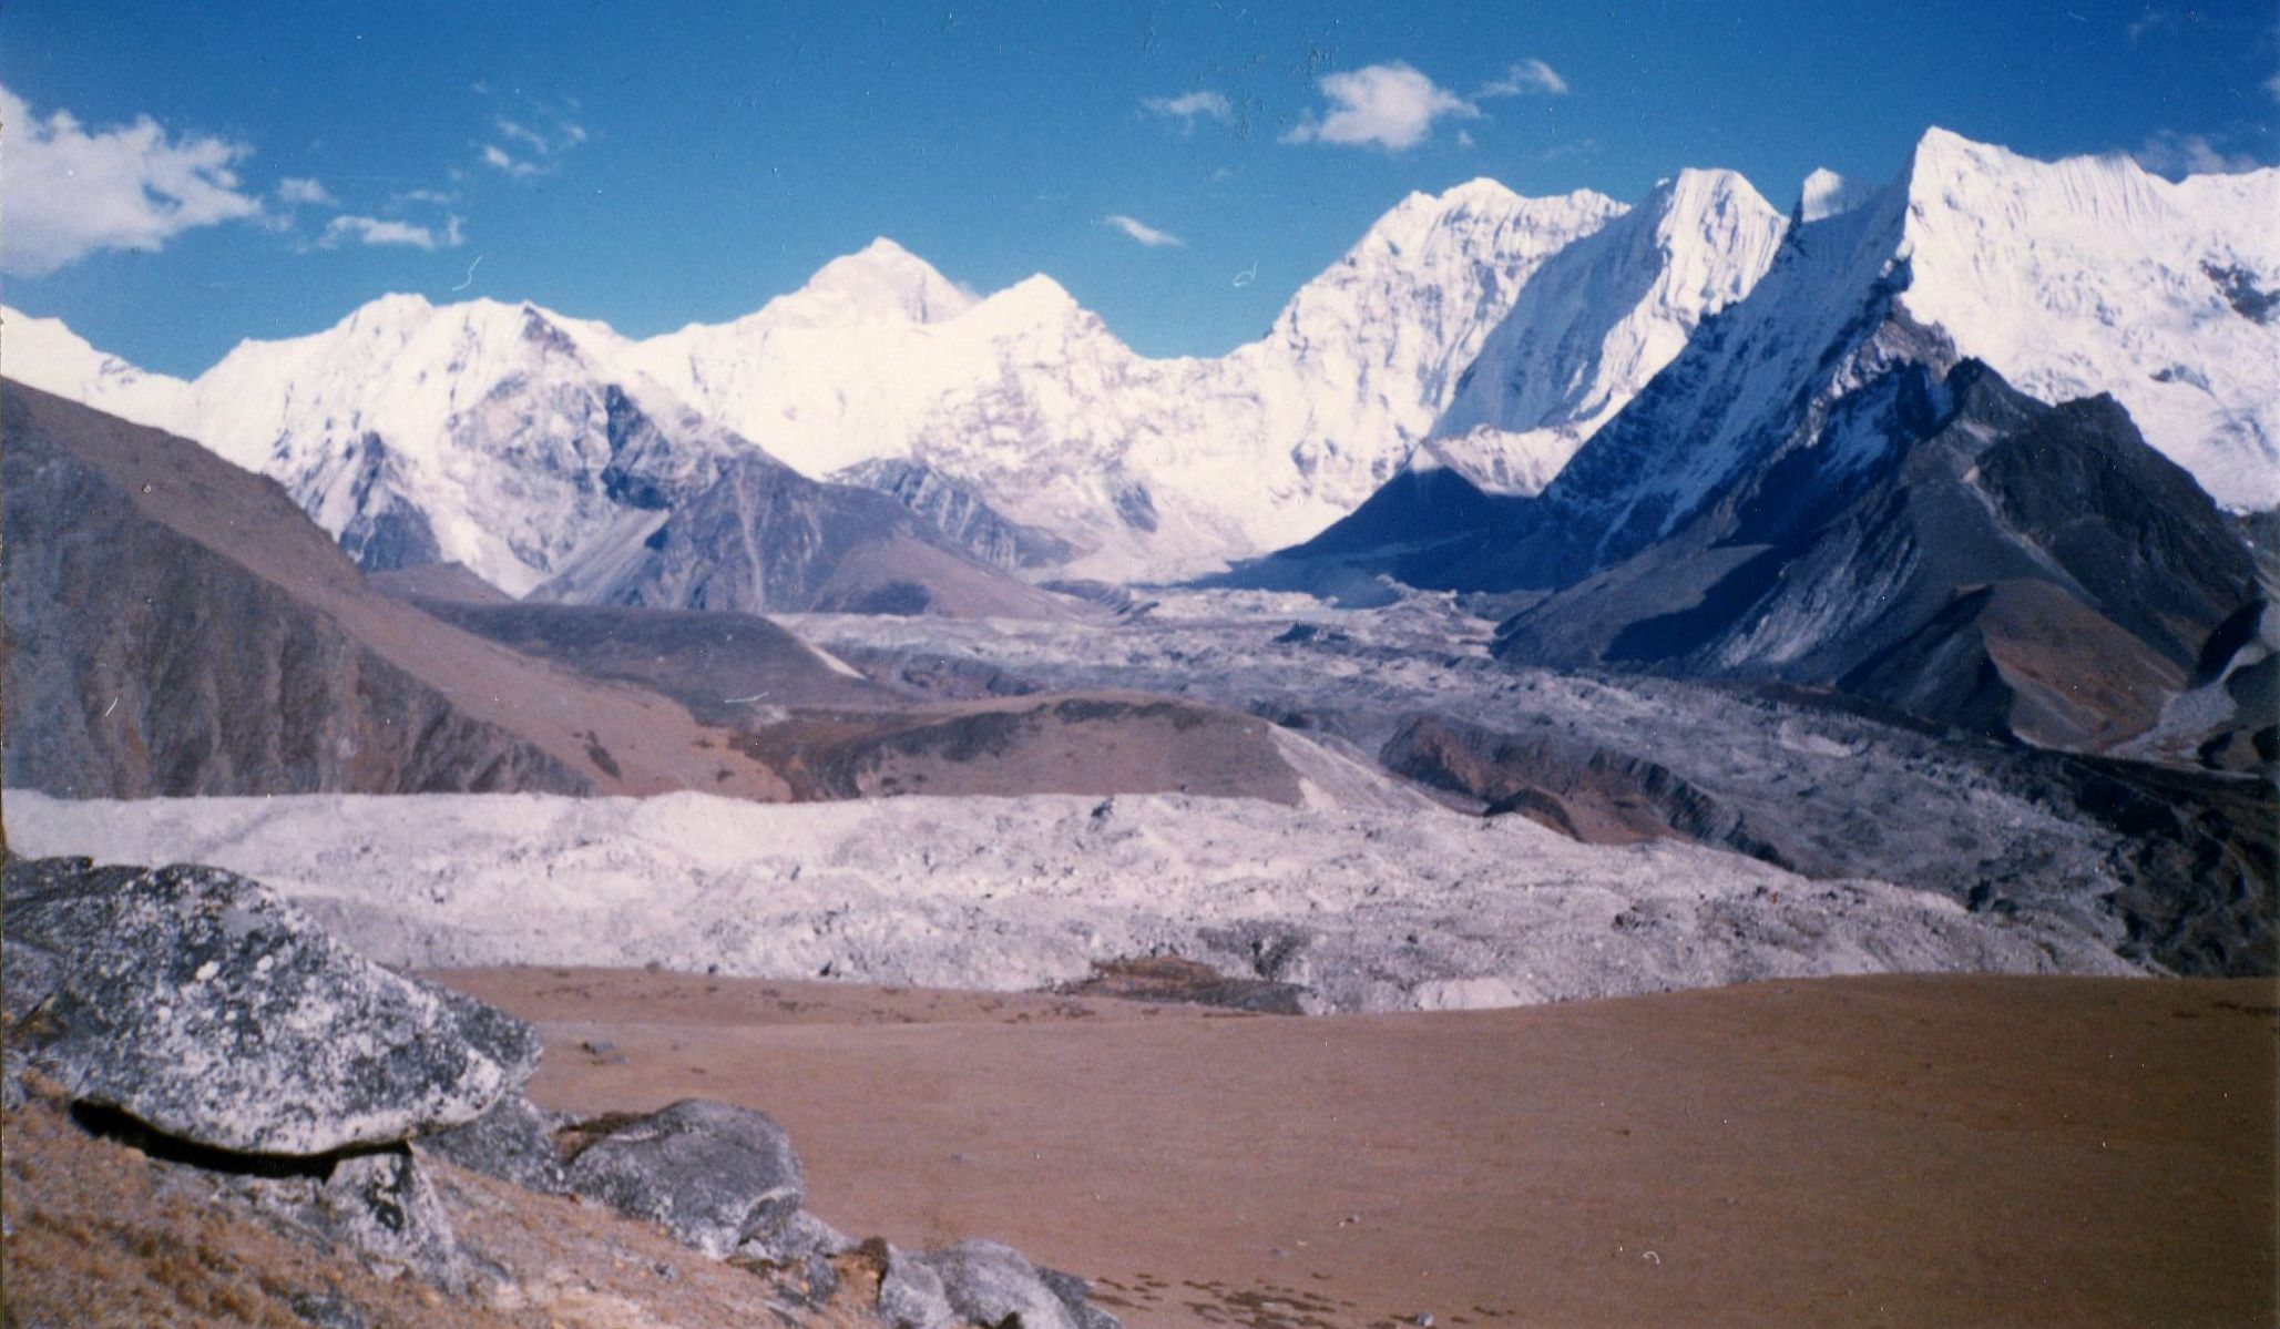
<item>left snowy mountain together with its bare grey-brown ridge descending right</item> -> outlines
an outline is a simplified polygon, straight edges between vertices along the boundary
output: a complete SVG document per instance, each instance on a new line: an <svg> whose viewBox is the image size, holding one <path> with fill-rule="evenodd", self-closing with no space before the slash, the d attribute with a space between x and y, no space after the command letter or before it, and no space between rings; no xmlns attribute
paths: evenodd
<svg viewBox="0 0 2280 1329"><path fill-rule="evenodd" d="M606 326L529 303L383 296L196 383L137 378L59 326L34 344L25 381L112 390L280 481L367 570L461 563L518 597L673 609L1062 611L889 495L695 413Z"/></svg>

